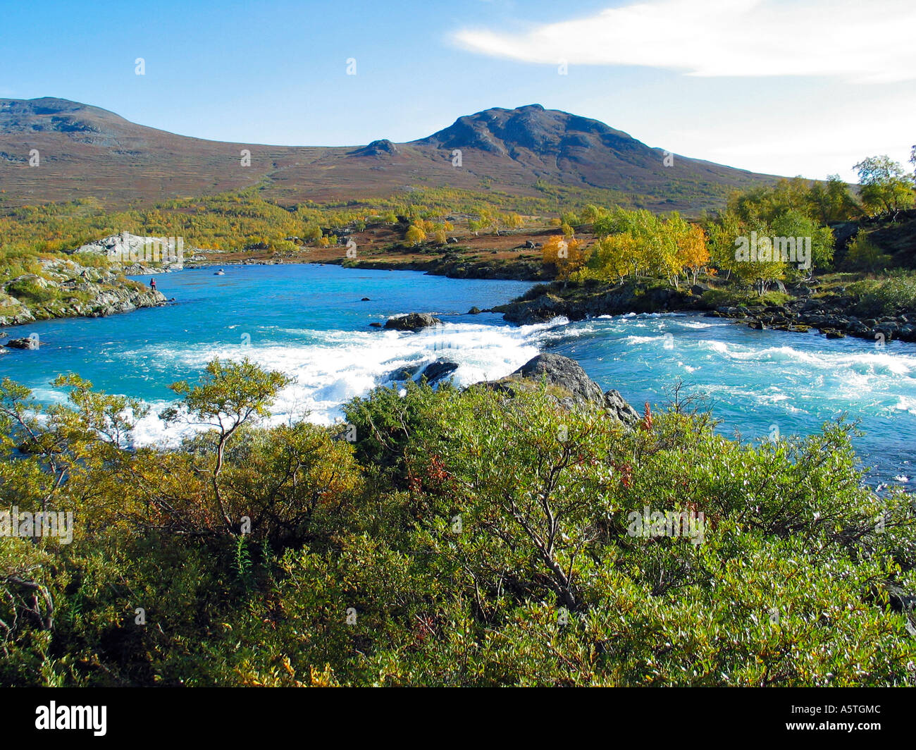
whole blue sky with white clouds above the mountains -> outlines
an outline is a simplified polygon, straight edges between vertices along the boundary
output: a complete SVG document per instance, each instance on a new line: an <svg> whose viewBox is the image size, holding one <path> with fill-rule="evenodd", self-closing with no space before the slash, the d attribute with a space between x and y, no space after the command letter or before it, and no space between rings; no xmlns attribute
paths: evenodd
<svg viewBox="0 0 916 750"><path fill-rule="evenodd" d="M912 0L2 8L0 97L60 96L199 138L403 141L540 103L686 156L846 179L916 142Z"/></svg>

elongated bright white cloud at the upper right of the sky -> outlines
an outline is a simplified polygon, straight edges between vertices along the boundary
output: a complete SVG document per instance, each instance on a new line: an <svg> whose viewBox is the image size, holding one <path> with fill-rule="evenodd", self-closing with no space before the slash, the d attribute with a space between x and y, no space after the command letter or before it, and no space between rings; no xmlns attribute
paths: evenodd
<svg viewBox="0 0 916 750"><path fill-rule="evenodd" d="M463 29L466 50L556 65L639 65L696 76L916 80L913 0L660 0L522 33Z"/></svg>

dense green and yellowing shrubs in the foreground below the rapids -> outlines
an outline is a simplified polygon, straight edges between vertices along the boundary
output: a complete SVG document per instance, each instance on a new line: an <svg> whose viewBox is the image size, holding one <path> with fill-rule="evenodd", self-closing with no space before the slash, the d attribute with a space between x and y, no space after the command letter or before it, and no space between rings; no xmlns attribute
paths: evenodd
<svg viewBox="0 0 916 750"><path fill-rule="evenodd" d="M279 373L214 361L140 403L0 385L4 685L913 685L916 524L851 425L751 444L677 392L624 426L557 386L408 383L269 426ZM702 544L629 513L703 513Z"/></svg>

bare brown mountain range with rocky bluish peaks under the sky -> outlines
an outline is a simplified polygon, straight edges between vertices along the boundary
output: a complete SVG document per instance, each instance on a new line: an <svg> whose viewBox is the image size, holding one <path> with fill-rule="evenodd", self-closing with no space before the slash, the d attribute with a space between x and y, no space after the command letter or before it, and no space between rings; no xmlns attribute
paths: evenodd
<svg viewBox="0 0 916 750"><path fill-rule="evenodd" d="M33 149L38 166L29 164ZM539 186L548 184L621 191L649 208L690 213L722 204L731 188L773 179L680 156L665 166L662 149L540 105L459 117L409 143L291 147L187 138L65 99L0 99L6 205L90 196L113 207L147 205L258 183L282 204L371 199L413 187L542 195Z"/></svg>

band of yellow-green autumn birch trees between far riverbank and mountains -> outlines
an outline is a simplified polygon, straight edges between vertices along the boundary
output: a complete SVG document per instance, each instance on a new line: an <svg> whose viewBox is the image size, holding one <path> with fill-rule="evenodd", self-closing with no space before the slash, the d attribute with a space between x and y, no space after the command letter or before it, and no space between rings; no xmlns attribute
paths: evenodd
<svg viewBox="0 0 916 750"><path fill-rule="evenodd" d="M446 257L458 252L449 245L453 234L547 233L539 243L540 260L561 281L660 280L673 288L703 281L725 288L726 296L740 303L748 292L766 296L815 276L830 281L832 274L845 274L838 277L845 283L916 268L911 251L916 215L910 210L916 204L914 176L886 156L864 159L856 170L855 191L836 175L823 182L798 177L733 193L724 197L721 211L693 217L653 214L640 207L637 195L541 183L540 197L438 188L293 205L264 200L261 186L116 213L93 199L5 209L0 196L0 284L6 295L15 298L14 292L21 292L34 302L37 294L48 292L34 284L21 290L17 280L47 275L42 260L122 231L183 237L186 247L204 251L267 251L308 260L311 248L343 246L350 232L386 226L399 237L388 246L393 254L400 248ZM835 231L842 226L852 231L838 237ZM888 237L889 227L898 237ZM748 237L774 238L773 256L736 259L736 244ZM801 238L810 248L807 263L782 252ZM485 265L492 271L498 262ZM104 265L105 259L93 263Z"/></svg>

